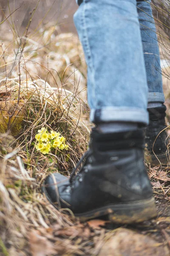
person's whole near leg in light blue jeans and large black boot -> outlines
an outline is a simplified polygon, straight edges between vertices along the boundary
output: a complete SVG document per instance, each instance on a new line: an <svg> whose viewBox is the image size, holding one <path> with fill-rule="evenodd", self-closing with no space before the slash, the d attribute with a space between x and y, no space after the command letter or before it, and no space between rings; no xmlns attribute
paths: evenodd
<svg viewBox="0 0 170 256"><path fill-rule="evenodd" d="M79 173L70 180L49 175L43 192L55 207L70 208L82 220L106 214L120 223L147 220L156 209L137 129L148 123L148 90L136 0L83 0L74 22L88 64L96 128Z"/></svg>

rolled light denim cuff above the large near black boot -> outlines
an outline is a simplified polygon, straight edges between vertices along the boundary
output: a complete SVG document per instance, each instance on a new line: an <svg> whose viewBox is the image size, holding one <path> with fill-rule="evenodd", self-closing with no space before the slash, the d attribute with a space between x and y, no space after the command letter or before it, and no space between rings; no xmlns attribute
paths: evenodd
<svg viewBox="0 0 170 256"><path fill-rule="evenodd" d="M143 125L149 124L148 112L141 108L105 107L92 109L90 119L94 124L101 122L135 122Z"/></svg>

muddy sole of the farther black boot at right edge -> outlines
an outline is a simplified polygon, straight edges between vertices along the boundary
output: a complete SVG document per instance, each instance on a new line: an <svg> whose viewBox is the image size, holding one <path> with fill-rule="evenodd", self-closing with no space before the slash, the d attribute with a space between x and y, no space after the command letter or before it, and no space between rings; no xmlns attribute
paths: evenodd
<svg viewBox="0 0 170 256"><path fill-rule="evenodd" d="M156 157L157 156L157 157ZM146 163L150 163L151 167L158 166L161 164L167 164L167 154L158 154L158 155L153 155L153 154L146 154L144 153L144 160Z"/></svg>

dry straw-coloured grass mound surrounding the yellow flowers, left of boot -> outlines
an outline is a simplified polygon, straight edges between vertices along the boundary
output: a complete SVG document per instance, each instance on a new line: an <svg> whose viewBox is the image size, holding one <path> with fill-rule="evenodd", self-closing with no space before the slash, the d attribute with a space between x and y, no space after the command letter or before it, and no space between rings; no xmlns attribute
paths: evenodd
<svg viewBox="0 0 170 256"><path fill-rule="evenodd" d="M12 255L17 255L20 238L27 244L30 228L44 227L46 230L54 221L60 227L72 225L67 216L45 201L41 185L49 172L70 175L87 149L89 131L80 120L79 98L63 87L53 89L42 79L19 76L1 80L0 96L1 104L4 103L3 108L1 105L1 128L7 129L6 134L0 135L1 243L5 241L8 246L12 243ZM20 127L18 122L21 130L15 138L11 137L9 134L16 133L16 127ZM42 127L65 136L69 150L45 156L38 153L35 134ZM6 245L2 244L1 249L5 252ZM4 255L8 255L6 253Z"/></svg>

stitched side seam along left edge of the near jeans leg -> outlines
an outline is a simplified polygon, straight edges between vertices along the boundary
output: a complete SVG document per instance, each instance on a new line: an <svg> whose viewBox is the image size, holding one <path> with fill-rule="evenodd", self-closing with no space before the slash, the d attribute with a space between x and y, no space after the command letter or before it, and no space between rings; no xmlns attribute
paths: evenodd
<svg viewBox="0 0 170 256"><path fill-rule="evenodd" d="M91 70L92 70L92 74L93 76L95 77L95 72L94 72L94 64L93 64L93 61L92 61L92 54L91 54L91 49L90 49L90 44L89 44L89 41L88 41L88 32L87 32L87 27L86 27L86 22L85 22L85 11L86 11L86 3L87 0L84 1L84 8L83 8L83 15L82 15L82 25L84 25L84 31L85 31L85 35L83 35L83 39L85 40L84 43L85 43L85 47L86 47L86 51L87 51L87 54L88 54L88 61L89 61L89 67L91 67ZM95 81L95 79L94 79ZM93 98L94 98L94 104L96 105L96 97L95 97L95 88L94 88L94 83L91 81L91 85L92 85L92 92L93 92Z"/></svg>

